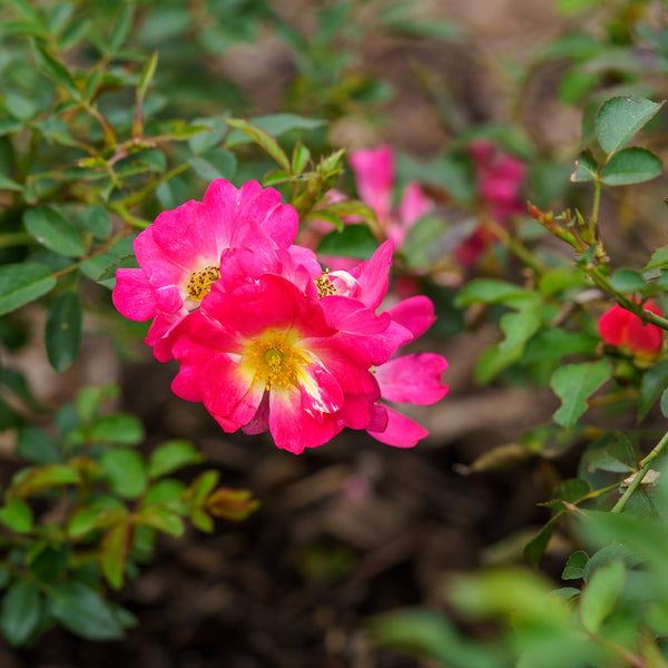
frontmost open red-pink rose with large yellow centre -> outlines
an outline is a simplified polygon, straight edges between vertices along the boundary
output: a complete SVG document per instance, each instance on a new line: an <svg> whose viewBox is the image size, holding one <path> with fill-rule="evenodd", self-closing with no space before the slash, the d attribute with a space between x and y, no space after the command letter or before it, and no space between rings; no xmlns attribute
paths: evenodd
<svg viewBox="0 0 668 668"><path fill-rule="evenodd" d="M180 371L171 389L204 402L224 431L268 429L295 454L372 416L382 430L371 360L337 333L320 301L283 277L267 274L230 292L214 284L174 345Z"/></svg>

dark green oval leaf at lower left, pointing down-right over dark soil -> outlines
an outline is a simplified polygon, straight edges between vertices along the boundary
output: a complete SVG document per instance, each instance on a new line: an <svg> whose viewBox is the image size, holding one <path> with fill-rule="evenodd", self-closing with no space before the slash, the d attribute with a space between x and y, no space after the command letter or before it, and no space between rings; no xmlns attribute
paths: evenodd
<svg viewBox="0 0 668 668"><path fill-rule="evenodd" d="M77 636L89 640L122 638L122 626L114 608L84 582L56 584L47 602L51 615Z"/></svg>

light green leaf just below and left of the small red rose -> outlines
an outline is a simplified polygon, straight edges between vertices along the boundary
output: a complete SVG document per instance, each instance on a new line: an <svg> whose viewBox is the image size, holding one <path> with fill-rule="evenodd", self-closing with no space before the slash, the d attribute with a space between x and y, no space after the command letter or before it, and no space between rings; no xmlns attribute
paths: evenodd
<svg viewBox="0 0 668 668"><path fill-rule="evenodd" d="M561 406L554 413L554 422L570 428L587 411L587 399L610 376L612 367L607 360L593 363L567 364L558 369L550 381Z"/></svg>

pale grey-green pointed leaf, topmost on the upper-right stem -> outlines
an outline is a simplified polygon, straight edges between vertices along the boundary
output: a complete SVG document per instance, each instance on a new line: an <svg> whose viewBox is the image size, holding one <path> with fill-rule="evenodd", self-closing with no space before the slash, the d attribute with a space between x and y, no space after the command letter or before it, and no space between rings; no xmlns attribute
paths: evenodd
<svg viewBox="0 0 668 668"><path fill-rule="evenodd" d="M622 149L662 106L664 102L635 96L606 100L596 115L596 135L601 148L609 155Z"/></svg>

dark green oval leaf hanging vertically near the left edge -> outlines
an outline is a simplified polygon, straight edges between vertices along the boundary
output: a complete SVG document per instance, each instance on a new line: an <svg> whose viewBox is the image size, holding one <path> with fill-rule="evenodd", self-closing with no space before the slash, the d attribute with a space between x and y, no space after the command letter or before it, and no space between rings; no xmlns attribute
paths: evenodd
<svg viewBox="0 0 668 668"><path fill-rule="evenodd" d="M84 310L77 293L66 292L51 304L45 337L49 364L56 371L65 371L77 358L82 321Z"/></svg>

